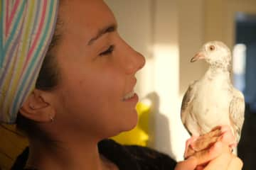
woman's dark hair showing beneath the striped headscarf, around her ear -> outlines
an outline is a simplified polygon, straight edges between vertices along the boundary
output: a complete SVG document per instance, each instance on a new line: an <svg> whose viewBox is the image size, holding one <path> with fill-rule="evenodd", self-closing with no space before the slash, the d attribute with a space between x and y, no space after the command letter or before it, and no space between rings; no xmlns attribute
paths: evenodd
<svg viewBox="0 0 256 170"><path fill-rule="evenodd" d="M42 91L53 90L55 86L58 85L60 74L58 72L58 64L55 57L55 46L58 45L60 40L60 26L62 26L62 22L60 22L60 17L58 17L53 38L48 47L48 51L46 52L46 57L43 60L38 79L36 80L36 89ZM33 120L24 117L19 112L16 118L16 128L28 137L38 137L38 135L43 135L40 128L38 128Z"/></svg>

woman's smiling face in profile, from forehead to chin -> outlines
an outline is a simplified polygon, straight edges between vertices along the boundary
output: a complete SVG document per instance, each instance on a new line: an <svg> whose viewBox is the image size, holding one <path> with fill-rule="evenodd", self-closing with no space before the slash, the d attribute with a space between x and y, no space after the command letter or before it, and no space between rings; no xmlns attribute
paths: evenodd
<svg viewBox="0 0 256 170"><path fill-rule="evenodd" d="M134 74L144 66L144 57L119 36L102 0L65 1L59 13L55 123L100 137L130 130L137 123Z"/></svg>

